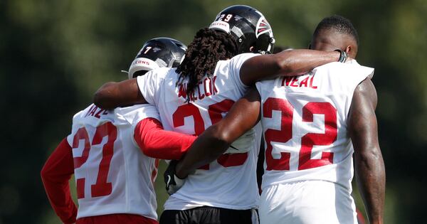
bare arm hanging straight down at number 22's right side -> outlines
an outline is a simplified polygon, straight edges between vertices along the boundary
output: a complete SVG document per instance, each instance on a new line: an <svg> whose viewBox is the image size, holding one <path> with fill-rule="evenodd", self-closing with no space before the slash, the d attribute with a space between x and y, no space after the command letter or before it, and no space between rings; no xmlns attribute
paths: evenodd
<svg viewBox="0 0 427 224"><path fill-rule="evenodd" d="M383 223L385 168L378 143L376 90L367 78L354 90L349 110L349 134L354 146L357 183L369 223Z"/></svg>

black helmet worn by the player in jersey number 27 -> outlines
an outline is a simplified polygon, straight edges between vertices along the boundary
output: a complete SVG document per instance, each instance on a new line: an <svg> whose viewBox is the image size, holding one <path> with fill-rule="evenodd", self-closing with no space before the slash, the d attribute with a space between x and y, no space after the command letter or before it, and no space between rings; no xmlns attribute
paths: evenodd
<svg viewBox="0 0 427 224"><path fill-rule="evenodd" d="M129 78L144 75L149 70L176 68L184 57L186 46L172 38L152 38L144 43L137 57L130 64Z"/></svg>

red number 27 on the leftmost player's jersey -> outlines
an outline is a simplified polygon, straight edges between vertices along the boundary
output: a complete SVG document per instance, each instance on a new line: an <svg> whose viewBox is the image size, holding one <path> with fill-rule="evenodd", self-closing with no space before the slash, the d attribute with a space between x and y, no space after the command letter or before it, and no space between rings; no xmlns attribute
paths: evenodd
<svg viewBox="0 0 427 224"><path fill-rule="evenodd" d="M107 177L114 152L114 142L117 139L117 128L111 122L98 126L93 136L92 144L89 142L88 131L85 127L78 129L73 138L73 149L79 147L80 140L84 142L82 156L74 157L74 169L78 169L88 160L92 146L101 144L104 137L107 137L107 142L102 145L102 159L98 165L96 183L90 186L90 196L92 197L107 196L112 192L112 183L107 182ZM85 178L78 178L76 185L78 199L85 198Z"/></svg>

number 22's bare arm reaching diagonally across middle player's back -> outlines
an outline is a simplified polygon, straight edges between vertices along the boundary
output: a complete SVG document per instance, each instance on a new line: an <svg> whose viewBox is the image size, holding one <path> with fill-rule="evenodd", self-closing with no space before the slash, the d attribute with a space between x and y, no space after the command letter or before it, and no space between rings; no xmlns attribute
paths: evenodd
<svg viewBox="0 0 427 224"><path fill-rule="evenodd" d="M260 117L260 95L252 87L238 100L226 117L204 131L190 146L184 158L176 165L179 178L223 154L231 143L248 132L258 123Z"/></svg>

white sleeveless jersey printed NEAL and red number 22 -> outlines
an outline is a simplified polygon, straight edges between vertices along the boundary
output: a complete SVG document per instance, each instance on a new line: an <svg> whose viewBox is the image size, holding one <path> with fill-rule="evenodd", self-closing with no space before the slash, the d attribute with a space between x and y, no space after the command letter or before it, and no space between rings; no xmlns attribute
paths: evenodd
<svg viewBox="0 0 427 224"><path fill-rule="evenodd" d="M265 137L263 189L322 180L351 191L349 107L354 89L373 73L355 61L329 63L306 75L256 83Z"/></svg>

